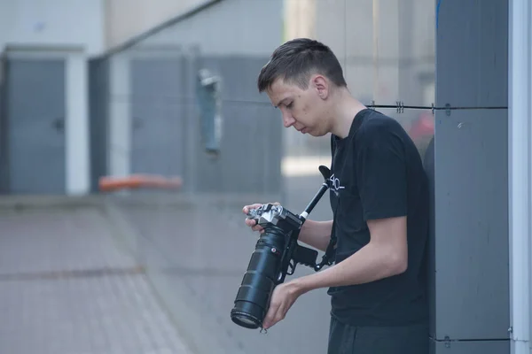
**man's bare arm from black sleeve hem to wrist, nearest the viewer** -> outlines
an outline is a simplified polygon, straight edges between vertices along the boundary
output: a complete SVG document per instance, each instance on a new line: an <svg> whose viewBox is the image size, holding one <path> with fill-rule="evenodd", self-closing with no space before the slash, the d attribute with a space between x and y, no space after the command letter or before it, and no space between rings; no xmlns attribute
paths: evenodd
<svg viewBox="0 0 532 354"><path fill-rule="evenodd" d="M378 281L406 271L406 217L368 220L371 241L339 264L293 280L299 293Z"/></svg>

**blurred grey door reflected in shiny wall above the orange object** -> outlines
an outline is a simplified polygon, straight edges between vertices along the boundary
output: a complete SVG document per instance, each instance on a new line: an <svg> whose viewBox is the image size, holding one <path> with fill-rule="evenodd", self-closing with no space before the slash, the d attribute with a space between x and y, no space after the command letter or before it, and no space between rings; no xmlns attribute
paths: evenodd
<svg viewBox="0 0 532 354"><path fill-rule="evenodd" d="M182 175L184 81L179 58L132 60L131 172Z"/></svg>

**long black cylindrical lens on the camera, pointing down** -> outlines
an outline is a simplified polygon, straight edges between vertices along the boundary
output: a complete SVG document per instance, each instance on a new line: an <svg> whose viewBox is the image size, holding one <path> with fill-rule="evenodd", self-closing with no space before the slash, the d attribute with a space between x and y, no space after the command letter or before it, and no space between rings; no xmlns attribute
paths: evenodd
<svg viewBox="0 0 532 354"><path fill-rule="evenodd" d="M262 326L285 247L286 236L277 227L265 230L257 241L231 310L237 325L251 329Z"/></svg>

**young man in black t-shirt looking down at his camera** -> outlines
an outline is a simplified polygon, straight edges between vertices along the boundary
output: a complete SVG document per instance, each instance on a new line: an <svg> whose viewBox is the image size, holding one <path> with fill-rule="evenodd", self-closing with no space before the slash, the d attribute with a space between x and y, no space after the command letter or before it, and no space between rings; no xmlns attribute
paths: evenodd
<svg viewBox="0 0 532 354"><path fill-rule="evenodd" d="M299 296L328 288L329 354L426 353L428 189L416 146L395 119L350 95L338 59L321 42L281 45L258 89L285 127L332 134L333 220L307 220L300 241L325 251L332 233L337 239L335 265L274 289L264 328L284 319Z"/></svg>

